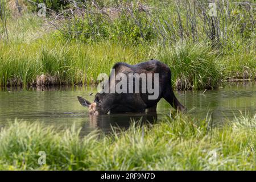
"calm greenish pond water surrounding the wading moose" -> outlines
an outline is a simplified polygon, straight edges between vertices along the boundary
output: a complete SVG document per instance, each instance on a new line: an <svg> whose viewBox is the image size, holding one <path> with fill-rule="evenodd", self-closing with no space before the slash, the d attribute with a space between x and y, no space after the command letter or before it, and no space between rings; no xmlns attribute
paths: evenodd
<svg viewBox="0 0 256 182"><path fill-rule="evenodd" d="M208 111L213 122L223 122L226 118L240 115L241 111L256 112L256 86L253 82L230 83L217 90L175 92L178 100L197 118L205 118ZM93 93L93 96L90 96ZM40 121L60 129L76 123L81 133L87 134L100 129L111 131L111 126L127 128L131 118L154 121L156 115L114 114L89 116L88 109L82 107L77 96L93 101L95 88L69 86L59 88L5 89L0 91L0 127L15 118L24 121ZM161 100L157 108L157 120L170 114L171 106Z"/></svg>

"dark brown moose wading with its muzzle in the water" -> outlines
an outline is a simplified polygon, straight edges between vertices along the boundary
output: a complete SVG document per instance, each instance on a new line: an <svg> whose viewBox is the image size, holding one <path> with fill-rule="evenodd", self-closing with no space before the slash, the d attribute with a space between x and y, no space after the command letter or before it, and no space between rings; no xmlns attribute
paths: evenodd
<svg viewBox="0 0 256 182"><path fill-rule="evenodd" d="M172 91L170 68L158 60L116 63L92 104L78 97L81 105L89 107L89 114L155 112L161 98L175 109L185 110Z"/></svg>

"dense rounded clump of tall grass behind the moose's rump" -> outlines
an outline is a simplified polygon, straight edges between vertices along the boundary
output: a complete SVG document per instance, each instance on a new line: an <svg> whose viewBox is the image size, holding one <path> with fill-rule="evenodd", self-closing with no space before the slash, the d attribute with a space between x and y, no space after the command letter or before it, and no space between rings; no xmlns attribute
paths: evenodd
<svg viewBox="0 0 256 182"><path fill-rule="evenodd" d="M218 52L203 43L160 47L156 57L170 65L177 89L216 88L221 80Z"/></svg>

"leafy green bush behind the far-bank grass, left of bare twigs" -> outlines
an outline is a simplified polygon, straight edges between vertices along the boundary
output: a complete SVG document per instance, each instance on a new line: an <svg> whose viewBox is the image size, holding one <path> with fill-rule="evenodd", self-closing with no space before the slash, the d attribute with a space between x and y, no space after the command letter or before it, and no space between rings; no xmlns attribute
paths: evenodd
<svg viewBox="0 0 256 182"><path fill-rule="evenodd" d="M139 44L155 38L154 28L146 13L136 7L115 11L118 14L115 17L94 9L84 13L84 16L75 15L67 19L61 32L66 39L82 42L110 39L124 44Z"/></svg>

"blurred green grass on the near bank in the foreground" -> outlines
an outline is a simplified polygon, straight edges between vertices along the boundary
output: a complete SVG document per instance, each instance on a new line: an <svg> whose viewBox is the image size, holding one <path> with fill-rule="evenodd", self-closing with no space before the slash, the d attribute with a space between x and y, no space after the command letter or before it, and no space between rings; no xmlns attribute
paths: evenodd
<svg viewBox="0 0 256 182"><path fill-rule="evenodd" d="M84 138L75 127L56 132L15 121L0 132L0 169L255 170L256 115L221 127L209 121L175 115L154 126ZM39 151L46 152L46 165L38 164Z"/></svg>

